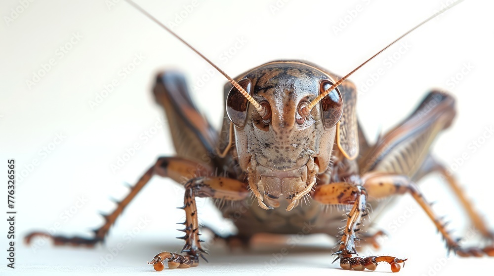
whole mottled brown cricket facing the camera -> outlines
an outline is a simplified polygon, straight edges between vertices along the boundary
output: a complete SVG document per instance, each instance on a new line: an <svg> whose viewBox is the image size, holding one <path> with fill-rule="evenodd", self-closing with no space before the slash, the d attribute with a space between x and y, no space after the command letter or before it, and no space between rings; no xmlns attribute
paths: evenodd
<svg viewBox="0 0 494 276"><path fill-rule="evenodd" d="M93 239L50 237L55 244L102 242L135 195L153 175L160 175L185 187L185 245L183 254L156 255L150 262L156 270L163 270L165 261L170 269L199 264L205 250L199 238L196 197L232 201L217 205L225 217L241 209L235 225L243 240L257 233L297 233L310 221L308 233L341 237L334 255L343 269L375 270L378 262L387 262L398 272L406 259L361 258L356 242L359 231L369 227L361 224L369 207L409 193L441 232L448 250L460 256L494 256L493 246L460 246L414 184L429 173L444 175L474 226L493 238L454 178L429 153L438 133L452 123L454 99L445 92L430 92L408 118L371 145L357 120L356 88L346 80L354 71L340 77L302 61L269 62L234 79L220 70L230 81L224 90L226 111L220 135L193 104L184 77L171 71L160 74L153 92L165 108L176 156L159 158L117 209L105 216L106 223L94 231ZM179 146L184 143L188 146ZM306 206L301 208L302 204ZM344 225L341 212L325 210L329 205L348 207ZM49 236L35 232L27 240L39 235Z"/></svg>

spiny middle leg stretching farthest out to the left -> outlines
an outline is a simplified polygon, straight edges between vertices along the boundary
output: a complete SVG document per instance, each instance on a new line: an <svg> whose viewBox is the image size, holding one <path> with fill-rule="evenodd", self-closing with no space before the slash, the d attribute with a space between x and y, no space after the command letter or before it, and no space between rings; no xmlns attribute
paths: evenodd
<svg viewBox="0 0 494 276"><path fill-rule="evenodd" d="M25 241L30 243L35 237L48 237L55 245L73 245L92 247L96 243L103 242L111 226L115 223L124 208L134 199L141 189L148 183L153 175L168 176L181 183L185 179L191 179L198 175L209 175L211 169L205 165L192 162L178 157L161 157L156 164L142 175L137 184L130 187L129 194L121 201L117 202L117 208L108 215L103 215L105 223L98 229L93 230L93 238L52 236L45 232L32 232L25 237Z"/></svg>

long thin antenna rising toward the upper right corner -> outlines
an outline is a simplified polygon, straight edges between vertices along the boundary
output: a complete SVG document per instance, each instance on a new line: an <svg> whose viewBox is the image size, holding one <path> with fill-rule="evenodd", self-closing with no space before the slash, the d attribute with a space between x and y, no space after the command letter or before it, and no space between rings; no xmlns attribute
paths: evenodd
<svg viewBox="0 0 494 276"><path fill-rule="evenodd" d="M400 37L396 38L393 42L389 43L386 47L382 48L379 52L377 52L376 54L374 54L371 58L369 58L364 63L362 63L361 65L359 65L357 68L353 69L351 72L349 72L348 74L346 74L344 77L342 77L339 80L337 80L333 85L331 85L331 87L329 87L327 90L325 90L323 93L321 93L316 99L312 100L312 102L310 104L306 105L305 108L302 110L302 114L305 115L305 116L308 116L310 114L310 111L312 110L312 108L314 108L314 106L316 106L317 103L319 103L324 97L326 97L329 94L329 92L333 91L334 88L336 88L338 85L340 85L343 81L345 81L349 76L351 76L353 73L355 73L358 69L360 69L361 67L363 67L364 65L366 65L373 58L375 58L377 55L379 55L384 50L386 50L387 48L389 48L391 45L395 44L397 41L399 41L400 39L402 39L404 36L412 33L418 27L424 25L428 21L432 20L436 16L438 16L441 13L449 10L450 8L452 8L453 6L459 4L462 1L463 0L456 1L452 5L442 8L440 11L434 13L429 18L425 19L424 21L420 22L418 25L416 25L415 27L413 27L412 29L410 29L409 31L407 31L405 34L400 35Z"/></svg>

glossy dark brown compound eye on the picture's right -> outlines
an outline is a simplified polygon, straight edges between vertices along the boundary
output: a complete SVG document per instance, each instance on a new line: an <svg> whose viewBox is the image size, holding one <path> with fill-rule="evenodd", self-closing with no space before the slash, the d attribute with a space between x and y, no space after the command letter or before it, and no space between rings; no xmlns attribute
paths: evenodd
<svg viewBox="0 0 494 276"><path fill-rule="evenodd" d="M332 83L329 80L321 81L319 94L324 93L331 85ZM341 98L338 88L329 92L329 94L321 100L320 104L323 126L326 130L329 130L338 123L343 115L343 98Z"/></svg>

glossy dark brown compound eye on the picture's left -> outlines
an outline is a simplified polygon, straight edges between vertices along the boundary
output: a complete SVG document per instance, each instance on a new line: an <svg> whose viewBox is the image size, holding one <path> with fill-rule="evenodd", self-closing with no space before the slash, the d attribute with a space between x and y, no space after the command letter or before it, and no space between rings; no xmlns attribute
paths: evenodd
<svg viewBox="0 0 494 276"><path fill-rule="evenodd" d="M238 84L245 89L245 91L250 94L250 87L252 82L248 78L241 79ZM244 128L247 118L248 101L240 93L240 91L232 87L226 98L226 114L232 123L239 127Z"/></svg>

